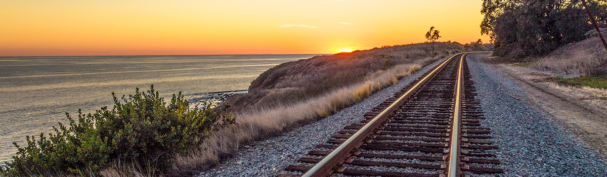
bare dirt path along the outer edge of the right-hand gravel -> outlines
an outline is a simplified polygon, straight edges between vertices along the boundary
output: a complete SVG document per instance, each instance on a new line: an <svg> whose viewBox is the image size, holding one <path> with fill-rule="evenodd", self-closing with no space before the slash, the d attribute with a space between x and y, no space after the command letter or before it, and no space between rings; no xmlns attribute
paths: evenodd
<svg viewBox="0 0 607 177"><path fill-rule="evenodd" d="M529 93L527 100L549 113L556 121L607 161L607 101L593 99L605 90L562 87L546 81L546 73L510 64L487 62L498 72L517 81Z"/></svg>

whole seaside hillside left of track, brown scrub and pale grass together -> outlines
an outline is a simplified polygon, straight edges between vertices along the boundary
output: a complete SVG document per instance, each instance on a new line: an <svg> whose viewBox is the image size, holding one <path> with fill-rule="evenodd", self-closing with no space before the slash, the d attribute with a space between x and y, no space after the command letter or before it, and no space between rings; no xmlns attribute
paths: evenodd
<svg viewBox="0 0 607 177"><path fill-rule="evenodd" d="M438 57L432 59L430 43L395 45L276 65L251 82L248 93L226 101L236 125L211 133L203 151L177 156L175 167L207 169L243 144L326 118L438 58L464 50L489 50L488 46L436 42Z"/></svg>

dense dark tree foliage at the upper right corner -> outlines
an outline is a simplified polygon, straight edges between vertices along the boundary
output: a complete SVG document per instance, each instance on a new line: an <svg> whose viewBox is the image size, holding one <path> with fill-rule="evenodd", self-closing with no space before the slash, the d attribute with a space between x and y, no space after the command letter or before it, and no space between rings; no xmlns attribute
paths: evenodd
<svg viewBox="0 0 607 177"><path fill-rule="evenodd" d="M607 22L606 0L588 1L599 24ZM592 29L579 0L484 0L481 33L489 35L494 55L544 55L585 39Z"/></svg>

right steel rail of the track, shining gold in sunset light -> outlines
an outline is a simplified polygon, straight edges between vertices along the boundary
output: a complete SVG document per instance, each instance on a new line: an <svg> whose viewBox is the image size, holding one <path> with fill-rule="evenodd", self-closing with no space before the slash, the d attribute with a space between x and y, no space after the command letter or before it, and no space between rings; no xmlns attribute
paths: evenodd
<svg viewBox="0 0 607 177"><path fill-rule="evenodd" d="M455 92L455 108L453 109L453 123L451 130L451 146L449 147L449 167L447 168L447 176L449 177L459 177L461 176L461 169L459 166L459 144L460 137L459 131L461 130L459 124L461 123L460 114L461 114L461 92L462 92L462 75L463 75L463 67L464 67L464 59L467 53L461 56L459 59L459 68L457 74L457 87Z"/></svg>

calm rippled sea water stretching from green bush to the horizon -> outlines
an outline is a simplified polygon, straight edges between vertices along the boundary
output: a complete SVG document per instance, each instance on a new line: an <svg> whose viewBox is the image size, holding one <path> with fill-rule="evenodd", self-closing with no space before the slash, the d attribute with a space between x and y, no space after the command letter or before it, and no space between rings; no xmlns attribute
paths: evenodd
<svg viewBox="0 0 607 177"><path fill-rule="evenodd" d="M0 58L0 162L15 155L12 142L52 132L65 113L89 113L117 96L151 84L168 98L183 92L245 90L274 65L314 55L61 56Z"/></svg>

